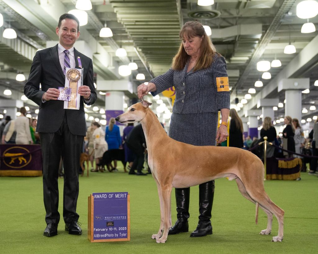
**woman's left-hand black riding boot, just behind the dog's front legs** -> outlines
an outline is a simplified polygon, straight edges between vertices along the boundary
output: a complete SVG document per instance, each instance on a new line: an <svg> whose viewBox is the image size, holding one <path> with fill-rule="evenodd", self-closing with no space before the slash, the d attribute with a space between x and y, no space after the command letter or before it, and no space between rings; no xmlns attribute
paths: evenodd
<svg viewBox="0 0 318 254"><path fill-rule="evenodd" d="M190 188L176 188L177 220L169 229L169 235L175 235L189 231Z"/></svg>

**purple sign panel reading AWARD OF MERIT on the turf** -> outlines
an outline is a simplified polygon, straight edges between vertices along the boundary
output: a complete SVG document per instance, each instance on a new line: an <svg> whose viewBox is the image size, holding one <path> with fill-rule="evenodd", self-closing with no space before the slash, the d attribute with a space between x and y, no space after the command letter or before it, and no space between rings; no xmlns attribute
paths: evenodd
<svg viewBox="0 0 318 254"><path fill-rule="evenodd" d="M93 240L128 238L128 192L93 193Z"/></svg>

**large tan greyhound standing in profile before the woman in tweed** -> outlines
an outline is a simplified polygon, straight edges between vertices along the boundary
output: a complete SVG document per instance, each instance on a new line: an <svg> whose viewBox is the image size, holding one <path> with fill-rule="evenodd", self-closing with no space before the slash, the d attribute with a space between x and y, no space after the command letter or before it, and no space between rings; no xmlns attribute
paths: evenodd
<svg viewBox="0 0 318 254"><path fill-rule="evenodd" d="M157 183L161 223L157 234L152 235L157 243L167 240L171 226L171 190L187 188L217 178L236 180L239 191L256 204L255 222L258 221L258 206L267 214L267 228L260 232L269 235L272 230L273 214L278 220L278 236L273 242L283 240L284 210L275 205L264 189L264 165L249 151L234 147L193 146L171 139L162 128L155 113L146 100L128 108L116 117L120 123L141 121L145 133L148 164ZM224 160L224 156L230 156ZM175 163L171 164L172 158ZM218 163L222 161L222 163Z"/></svg>

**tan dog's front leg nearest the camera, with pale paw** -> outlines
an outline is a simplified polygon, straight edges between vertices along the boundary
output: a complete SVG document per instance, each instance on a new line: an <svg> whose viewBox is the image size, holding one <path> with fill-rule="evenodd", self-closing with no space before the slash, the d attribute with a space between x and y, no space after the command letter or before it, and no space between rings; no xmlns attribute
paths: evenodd
<svg viewBox="0 0 318 254"><path fill-rule="evenodd" d="M159 239L156 239L156 242L159 243L165 243L168 237L169 228L170 228L170 207L171 207L171 185L165 185L161 186L161 193L162 193L162 203L163 203L163 214L164 214L164 228L163 228L163 234Z"/></svg>

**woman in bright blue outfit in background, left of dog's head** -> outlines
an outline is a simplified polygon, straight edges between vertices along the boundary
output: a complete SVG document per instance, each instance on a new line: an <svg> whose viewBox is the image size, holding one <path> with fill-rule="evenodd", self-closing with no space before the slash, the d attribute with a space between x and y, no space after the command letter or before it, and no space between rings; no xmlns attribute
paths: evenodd
<svg viewBox="0 0 318 254"><path fill-rule="evenodd" d="M106 134L105 134L105 140L108 145L108 150L111 149L119 149L121 146L121 136L119 132L119 127L115 125L115 118L112 117L109 120L109 124L106 127ZM117 170L117 161L114 160L114 170Z"/></svg>

